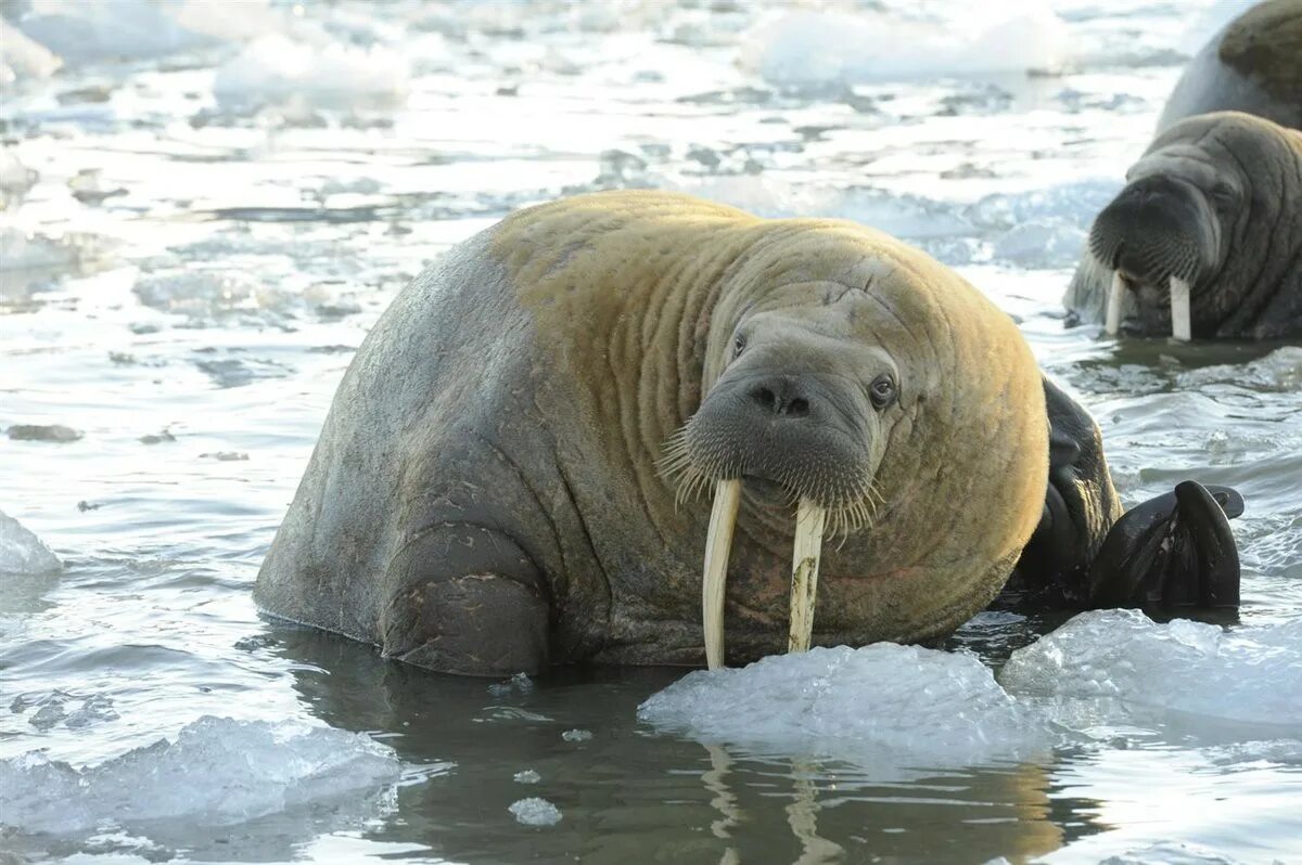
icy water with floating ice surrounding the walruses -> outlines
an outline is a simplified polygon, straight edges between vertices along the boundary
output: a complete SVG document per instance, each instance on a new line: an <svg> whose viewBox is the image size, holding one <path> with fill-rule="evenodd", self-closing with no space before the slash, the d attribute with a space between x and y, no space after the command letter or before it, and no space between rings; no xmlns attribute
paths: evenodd
<svg viewBox="0 0 1302 865"><path fill-rule="evenodd" d="M1241 4L975 5L0 4L0 861L1302 861L1302 349L1059 306ZM1129 502L1243 493L1238 620L987 613L947 652L492 683L259 618L389 298L620 186L960 269Z"/></svg>

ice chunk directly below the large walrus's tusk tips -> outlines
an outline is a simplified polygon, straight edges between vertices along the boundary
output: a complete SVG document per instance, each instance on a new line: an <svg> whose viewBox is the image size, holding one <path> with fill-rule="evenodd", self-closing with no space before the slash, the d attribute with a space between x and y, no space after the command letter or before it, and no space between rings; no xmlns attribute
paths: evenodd
<svg viewBox="0 0 1302 865"><path fill-rule="evenodd" d="M1014 756L1051 739L975 656L888 643L689 672L638 717L706 743L850 760L896 752L932 765Z"/></svg>

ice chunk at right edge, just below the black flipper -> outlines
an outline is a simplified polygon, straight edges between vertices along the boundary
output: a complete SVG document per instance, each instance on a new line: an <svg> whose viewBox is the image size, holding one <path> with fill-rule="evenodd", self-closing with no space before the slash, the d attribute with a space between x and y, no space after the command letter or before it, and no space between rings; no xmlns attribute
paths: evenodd
<svg viewBox="0 0 1302 865"><path fill-rule="evenodd" d="M1021 695L1302 728L1302 620L1224 630L1157 624L1135 610L1082 613L1014 652L1000 682Z"/></svg>

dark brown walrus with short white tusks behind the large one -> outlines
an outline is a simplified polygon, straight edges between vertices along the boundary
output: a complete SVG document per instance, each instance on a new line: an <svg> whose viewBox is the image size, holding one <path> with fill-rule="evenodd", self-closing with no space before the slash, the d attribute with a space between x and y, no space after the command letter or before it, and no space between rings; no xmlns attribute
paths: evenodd
<svg viewBox="0 0 1302 865"><path fill-rule="evenodd" d="M1242 112L1181 120L1090 229L1072 321L1176 339L1302 334L1302 131Z"/></svg>

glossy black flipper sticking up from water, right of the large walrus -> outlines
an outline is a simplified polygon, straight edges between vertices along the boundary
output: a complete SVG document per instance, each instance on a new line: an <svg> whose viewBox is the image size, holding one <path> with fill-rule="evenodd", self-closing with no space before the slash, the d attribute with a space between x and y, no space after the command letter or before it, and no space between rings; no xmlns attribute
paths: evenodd
<svg viewBox="0 0 1302 865"><path fill-rule="evenodd" d="M1236 490L1191 480L1128 511L1090 567L1090 605L1238 606L1229 519L1242 512Z"/></svg>

